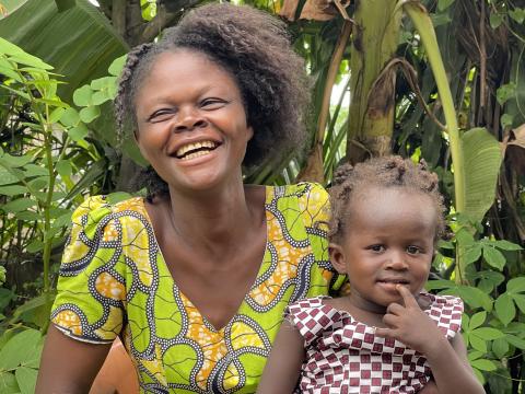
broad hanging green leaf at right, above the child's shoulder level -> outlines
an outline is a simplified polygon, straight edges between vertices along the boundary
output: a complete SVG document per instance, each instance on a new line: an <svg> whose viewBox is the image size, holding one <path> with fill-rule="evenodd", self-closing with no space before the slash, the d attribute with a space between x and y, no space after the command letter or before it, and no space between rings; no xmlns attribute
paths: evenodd
<svg viewBox="0 0 525 394"><path fill-rule="evenodd" d="M497 139L485 128L466 131L462 136L462 142L465 163L464 213L475 221L481 221L494 202L501 149Z"/></svg>

